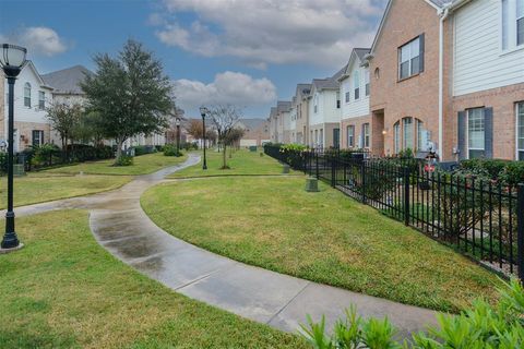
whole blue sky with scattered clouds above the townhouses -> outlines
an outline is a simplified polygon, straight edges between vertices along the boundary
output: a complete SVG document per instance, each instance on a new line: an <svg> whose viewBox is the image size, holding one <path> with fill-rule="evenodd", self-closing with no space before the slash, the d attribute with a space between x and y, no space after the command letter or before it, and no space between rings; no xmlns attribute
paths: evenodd
<svg viewBox="0 0 524 349"><path fill-rule="evenodd" d="M24 45L40 73L115 55L128 38L154 51L187 116L231 103L265 118L297 83L335 73L368 47L385 0L1 0L0 41Z"/></svg>

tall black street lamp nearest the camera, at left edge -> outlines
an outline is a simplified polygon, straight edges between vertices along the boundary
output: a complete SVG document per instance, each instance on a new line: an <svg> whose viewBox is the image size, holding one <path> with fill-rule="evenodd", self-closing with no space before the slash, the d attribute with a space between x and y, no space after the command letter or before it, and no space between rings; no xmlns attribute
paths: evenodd
<svg viewBox="0 0 524 349"><path fill-rule="evenodd" d="M0 67L3 70L9 85L9 123L8 123L8 212L5 213L5 233L2 239L1 250L20 249L22 244L14 231L13 210L13 133L14 133L14 82L25 64L27 49L2 44Z"/></svg>

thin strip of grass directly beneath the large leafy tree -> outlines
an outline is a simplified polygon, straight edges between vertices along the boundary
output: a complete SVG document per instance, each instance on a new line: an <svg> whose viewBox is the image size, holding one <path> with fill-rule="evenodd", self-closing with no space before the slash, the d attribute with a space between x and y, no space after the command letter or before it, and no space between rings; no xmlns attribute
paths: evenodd
<svg viewBox="0 0 524 349"><path fill-rule="evenodd" d="M183 163L187 155L181 157L164 156L164 153L147 154L134 157L134 164L131 166L112 166L114 159L82 163L73 166L58 167L44 172L48 173L73 173L79 172L90 174L147 174L155 172L164 167Z"/></svg>

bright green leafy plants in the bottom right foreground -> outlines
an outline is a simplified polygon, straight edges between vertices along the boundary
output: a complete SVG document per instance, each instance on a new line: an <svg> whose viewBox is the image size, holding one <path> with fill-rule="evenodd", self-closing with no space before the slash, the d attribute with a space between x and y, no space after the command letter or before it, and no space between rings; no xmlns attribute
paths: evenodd
<svg viewBox="0 0 524 349"><path fill-rule="evenodd" d="M418 333L410 341L401 345L395 329L388 318L362 320L355 306L346 310L346 317L338 320L333 335L325 332L325 317L313 323L308 315L308 325L301 325L301 335L315 349L516 349L524 348L524 288L512 279L499 289L497 306L483 299L460 315L439 314L439 327L429 327Z"/></svg>

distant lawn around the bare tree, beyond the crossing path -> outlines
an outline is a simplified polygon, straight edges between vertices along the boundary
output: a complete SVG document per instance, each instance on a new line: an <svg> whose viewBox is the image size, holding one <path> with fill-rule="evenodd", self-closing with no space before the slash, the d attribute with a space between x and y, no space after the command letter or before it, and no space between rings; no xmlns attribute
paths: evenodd
<svg viewBox="0 0 524 349"><path fill-rule="evenodd" d="M202 169L202 163L177 171L169 178L188 177L207 177L207 176L250 176L250 174L282 174L282 165L267 155L260 156L262 149L257 153L250 153L246 149L239 149L233 153L229 158L227 151L227 165L230 169L221 170L223 155L215 149L206 151L207 170ZM202 155L200 151L198 154Z"/></svg>

